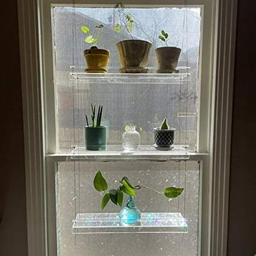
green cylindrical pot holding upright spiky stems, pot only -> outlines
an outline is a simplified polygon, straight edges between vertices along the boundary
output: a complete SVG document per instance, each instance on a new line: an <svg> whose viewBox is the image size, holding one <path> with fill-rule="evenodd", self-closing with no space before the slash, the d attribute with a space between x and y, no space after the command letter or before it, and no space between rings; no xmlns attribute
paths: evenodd
<svg viewBox="0 0 256 256"><path fill-rule="evenodd" d="M106 126L92 127L85 126L86 150L106 149Z"/></svg>

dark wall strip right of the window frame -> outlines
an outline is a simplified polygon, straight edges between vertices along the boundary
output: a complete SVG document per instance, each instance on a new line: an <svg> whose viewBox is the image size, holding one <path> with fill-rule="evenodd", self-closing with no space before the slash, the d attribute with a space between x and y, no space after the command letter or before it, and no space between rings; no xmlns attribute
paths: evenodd
<svg viewBox="0 0 256 256"><path fill-rule="evenodd" d="M256 254L256 2L238 0L228 256Z"/></svg>

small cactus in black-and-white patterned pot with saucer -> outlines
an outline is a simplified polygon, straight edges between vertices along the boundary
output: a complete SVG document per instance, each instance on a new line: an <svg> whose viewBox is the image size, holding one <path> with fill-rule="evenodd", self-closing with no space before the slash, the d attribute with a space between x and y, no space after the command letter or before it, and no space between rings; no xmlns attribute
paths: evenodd
<svg viewBox="0 0 256 256"><path fill-rule="evenodd" d="M154 147L157 150L170 150L174 144L174 128L170 128L167 119L164 118L159 128L154 128Z"/></svg>

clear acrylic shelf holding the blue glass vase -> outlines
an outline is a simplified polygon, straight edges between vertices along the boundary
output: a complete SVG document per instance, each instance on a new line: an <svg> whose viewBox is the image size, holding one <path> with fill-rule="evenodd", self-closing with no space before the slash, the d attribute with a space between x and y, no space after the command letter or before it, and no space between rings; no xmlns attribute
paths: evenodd
<svg viewBox="0 0 256 256"><path fill-rule="evenodd" d="M187 233L188 225L181 213L142 213L132 225L123 225L118 213L79 213L72 230L73 234Z"/></svg>

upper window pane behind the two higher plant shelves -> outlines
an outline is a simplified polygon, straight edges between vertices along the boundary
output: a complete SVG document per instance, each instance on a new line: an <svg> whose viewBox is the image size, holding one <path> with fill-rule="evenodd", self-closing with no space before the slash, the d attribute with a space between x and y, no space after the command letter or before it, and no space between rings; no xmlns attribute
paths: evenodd
<svg viewBox="0 0 256 256"><path fill-rule="evenodd" d="M55 49L55 112L56 144L58 152L70 152L72 145L84 146L85 113L90 104L104 106L104 124L109 127L108 144L122 143L123 126L134 123L142 127L141 144L152 144L152 128L167 117L176 128L175 144L196 146L197 94L200 48L200 8L132 8L134 39L153 44L148 61L151 80L142 77L127 80L80 80L71 72L83 72L85 60L85 34L81 26L94 28L104 24L98 47L109 49L109 72L120 67L115 44L129 39L126 32L116 33L113 24L117 15L114 8L55 7L53 9L53 38ZM182 49L178 65L180 73L189 73L185 79L161 80L153 76L156 69L155 48L164 46L158 39L164 29L170 35L169 46ZM75 68L71 68L71 66ZM152 78L153 76L153 78Z"/></svg>

